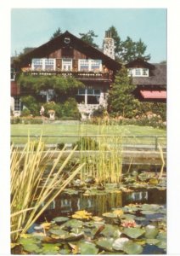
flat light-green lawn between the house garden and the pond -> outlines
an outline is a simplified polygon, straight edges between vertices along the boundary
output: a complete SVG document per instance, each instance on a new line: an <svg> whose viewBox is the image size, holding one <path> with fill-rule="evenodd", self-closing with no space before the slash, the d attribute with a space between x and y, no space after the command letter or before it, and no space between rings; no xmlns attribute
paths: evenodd
<svg viewBox="0 0 180 256"><path fill-rule="evenodd" d="M85 125L73 121L60 122L59 124L11 125L11 142L16 144L26 143L28 133L37 137L41 134L47 136L43 137L43 141L47 144L74 143L81 135L115 135L122 137L122 142L127 144L155 144L155 137L163 137L158 138L158 143L166 144L166 131L149 126Z"/></svg>

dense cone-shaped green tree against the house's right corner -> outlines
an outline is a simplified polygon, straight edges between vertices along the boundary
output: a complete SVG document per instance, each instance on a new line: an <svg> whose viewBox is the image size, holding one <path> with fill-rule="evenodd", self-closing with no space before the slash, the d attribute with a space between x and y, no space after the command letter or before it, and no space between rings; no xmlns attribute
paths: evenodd
<svg viewBox="0 0 180 256"><path fill-rule="evenodd" d="M138 113L139 102L132 95L135 88L131 78L127 76L127 68L122 67L115 76L115 82L109 92L108 110L110 114L132 118Z"/></svg>

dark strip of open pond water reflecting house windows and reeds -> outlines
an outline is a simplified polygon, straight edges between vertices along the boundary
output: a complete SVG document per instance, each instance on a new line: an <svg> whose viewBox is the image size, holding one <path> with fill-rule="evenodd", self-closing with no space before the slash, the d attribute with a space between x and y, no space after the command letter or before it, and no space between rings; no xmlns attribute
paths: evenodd
<svg viewBox="0 0 180 256"><path fill-rule="evenodd" d="M139 189L130 193L109 193L106 195L60 195L53 201L48 210L44 212L44 218L50 221L58 216L71 215L79 210L87 210L93 215L102 216L104 212L110 212L112 208L124 207L130 203L166 204L166 190Z"/></svg>

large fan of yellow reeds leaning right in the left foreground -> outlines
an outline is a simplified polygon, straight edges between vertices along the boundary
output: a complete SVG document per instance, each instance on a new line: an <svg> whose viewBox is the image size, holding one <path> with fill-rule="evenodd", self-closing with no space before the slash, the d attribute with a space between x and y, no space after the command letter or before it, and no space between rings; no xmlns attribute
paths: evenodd
<svg viewBox="0 0 180 256"><path fill-rule="evenodd" d="M20 233L25 233L37 218L44 212L48 205L59 195L70 183L73 177L82 169L82 165L76 166L65 178L63 170L68 164L76 148L62 161L65 148L58 157L53 160L55 151L43 151L44 144L39 142L28 142L20 151L11 148L11 240L15 241ZM49 162L53 166L47 172Z"/></svg>

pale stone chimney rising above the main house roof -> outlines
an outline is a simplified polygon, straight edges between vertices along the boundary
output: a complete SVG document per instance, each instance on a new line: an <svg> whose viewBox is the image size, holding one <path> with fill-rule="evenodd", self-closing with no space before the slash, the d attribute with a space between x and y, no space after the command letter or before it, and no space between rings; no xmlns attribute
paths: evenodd
<svg viewBox="0 0 180 256"><path fill-rule="evenodd" d="M105 32L105 38L103 41L104 55L108 55L111 59L115 60L115 41L111 38L111 32Z"/></svg>

